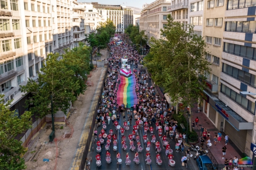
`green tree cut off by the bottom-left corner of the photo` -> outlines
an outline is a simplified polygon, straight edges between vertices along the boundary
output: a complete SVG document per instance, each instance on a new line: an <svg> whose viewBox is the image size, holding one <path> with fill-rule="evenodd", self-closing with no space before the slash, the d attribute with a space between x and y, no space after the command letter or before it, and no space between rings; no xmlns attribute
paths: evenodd
<svg viewBox="0 0 256 170"><path fill-rule="evenodd" d="M4 95L0 96L1 98ZM15 111L10 111L11 101L6 105L0 102L0 169L21 170L25 169L25 160L22 155L26 153L22 142L15 139L31 126L31 112L25 111L20 117Z"/></svg>

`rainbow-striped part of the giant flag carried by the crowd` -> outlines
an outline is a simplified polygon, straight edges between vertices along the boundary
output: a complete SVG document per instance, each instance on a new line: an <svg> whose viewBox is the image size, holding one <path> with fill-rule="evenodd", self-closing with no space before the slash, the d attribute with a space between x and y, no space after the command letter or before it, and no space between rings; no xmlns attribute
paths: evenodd
<svg viewBox="0 0 256 170"><path fill-rule="evenodd" d="M130 77L120 76L121 83L119 85L117 95L117 103L118 105L124 105L128 103L129 107L132 107L137 103L137 95L135 92L136 88L136 78L135 75L131 75Z"/></svg>

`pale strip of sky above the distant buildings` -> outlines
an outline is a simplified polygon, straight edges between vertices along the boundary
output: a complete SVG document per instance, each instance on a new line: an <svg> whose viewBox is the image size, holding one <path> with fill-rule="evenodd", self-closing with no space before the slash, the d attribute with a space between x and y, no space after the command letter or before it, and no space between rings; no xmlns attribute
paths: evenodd
<svg viewBox="0 0 256 170"><path fill-rule="evenodd" d="M141 8L144 3L150 4L154 2L154 0L77 0L78 2L98 2L99 4L111 4L111 5L124 5L124 6L131 6L136 8ZM124 4L123 4L124 3Z"/></svg>

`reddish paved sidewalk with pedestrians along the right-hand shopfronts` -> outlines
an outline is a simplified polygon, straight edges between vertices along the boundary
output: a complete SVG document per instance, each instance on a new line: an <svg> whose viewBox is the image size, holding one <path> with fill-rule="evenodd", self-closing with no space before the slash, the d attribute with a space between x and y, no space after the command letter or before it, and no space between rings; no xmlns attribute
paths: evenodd
<svg viewBox="0 0 256 170"><path fill-rule="evenodd" d="M234 158L235 156L238 159L242 158L242 152L236 147L236 145L229 139L228 144L225 145L225 136L226 134L222 132L222 139L220 142L216 142L216 146L214 146L214 136L218 134L219 130L213 125L213 123L206 117L206 114L204 114L202 111L198 113L197 104L194 105L194 107L191 109L192 116L191 121L195 121L196 117L199 119L198 127L194 127L194 130L197 132L198 136L200 136L200 130L198 128L204 127L207 129L207 132L210 132L210 141L212 143L212 146L210 146L210 151L212 152L214 158L219 164L220 168L224 167L225 160L222 159L222 147L226 146L226 156L228 160L230 158ZM233 166L232 166L233 167Z"/></svg>

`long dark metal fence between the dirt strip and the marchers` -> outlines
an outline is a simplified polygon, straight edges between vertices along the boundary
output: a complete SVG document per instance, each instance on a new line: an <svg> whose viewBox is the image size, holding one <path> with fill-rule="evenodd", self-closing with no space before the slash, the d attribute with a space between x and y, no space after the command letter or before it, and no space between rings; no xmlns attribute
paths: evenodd
<svg viewBox="0 0 256 170"><path fill-rule="evenodd" d="M104 75L102 87L100 89L100 96L98 97L98 103L97 103L97 106L95 107L94 115L93 115L93 118L92 118L92 125L91 125L92 128L90 128L90 131L89 131L89 134L88 134L88 138L87 138L87 141L86 141L86 144L85 144L85 147L84 147L84 153L83 153L83 156L82 156L82 160L81 160L79 170L84 170L84 167L85 167L85 163L86 163L85 159L87 157L88 150L89 150L89 147L90 147L90 142L92 140L92 134L93 134L93 131L94 131L95 119L98 115L98 107L99 107L99 103L100 103L101 96L102 96L101 94L104 90L104 82L106 81L106 77L107 77L107 74L108 74L108 67L109 67L109 65L107 65L107 70L106 70L106 73Z"/></svg>

